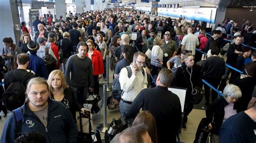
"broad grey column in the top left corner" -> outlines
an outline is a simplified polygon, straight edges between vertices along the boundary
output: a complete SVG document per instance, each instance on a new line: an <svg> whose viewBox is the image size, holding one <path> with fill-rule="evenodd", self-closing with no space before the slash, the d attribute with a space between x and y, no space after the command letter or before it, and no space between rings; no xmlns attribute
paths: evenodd
<svg viewBox="0 0 256 143"><path fill-rule="evenodd" d="M15 0L1 0L0 2L1 17L5 17L1 21L0 40L5 37L11 37L17 45L20 39L21 22L19 22L17 2ZM2 51L3 45L0 46Z"/></svg>

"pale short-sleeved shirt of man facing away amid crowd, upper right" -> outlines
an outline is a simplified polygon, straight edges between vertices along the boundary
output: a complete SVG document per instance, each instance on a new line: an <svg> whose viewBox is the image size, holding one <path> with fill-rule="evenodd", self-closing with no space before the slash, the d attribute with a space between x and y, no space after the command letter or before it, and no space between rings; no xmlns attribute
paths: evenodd
<svg viewBox="0 0 256 143"><path fill-rule="evenodd" d="M199 45L199 41L196 35L189 33L184 36L181 41L181 45L185 45L185 49L192 51L192 55L196 54L196 47Z"/></svg>

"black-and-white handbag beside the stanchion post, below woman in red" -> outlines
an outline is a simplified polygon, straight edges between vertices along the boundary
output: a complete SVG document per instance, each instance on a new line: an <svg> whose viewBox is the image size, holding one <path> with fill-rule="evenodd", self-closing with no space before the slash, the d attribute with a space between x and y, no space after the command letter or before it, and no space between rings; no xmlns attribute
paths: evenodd
<svg viewBox="0 0 256 143"><path fill-rule="evenodd" d="M103 101L99 95L90 94L83 104L84 108L90 110L91 113L98 113L103 106Z"/></svg>

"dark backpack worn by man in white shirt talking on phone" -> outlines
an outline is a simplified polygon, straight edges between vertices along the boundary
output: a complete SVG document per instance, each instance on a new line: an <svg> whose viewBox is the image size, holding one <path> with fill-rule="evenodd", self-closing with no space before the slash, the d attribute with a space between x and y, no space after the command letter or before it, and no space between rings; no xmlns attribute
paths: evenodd
<svg viewBox="0 0 256 143"><path fill-rule="evenodd" d="M128 71L128 77L130 78L132 76L132 69L130 66L126 66L125 67ZM145 75L145 71L144 69L142 69L142 74L143 76ZM114 99L117 99L118 101L121 100L121 96L123 94L123 90L121 90L121 86L120 86L120 82L119 82L119 75L117 75L116 78L114 78L113 80L113 87L112 87L112 97Z"/></svg>

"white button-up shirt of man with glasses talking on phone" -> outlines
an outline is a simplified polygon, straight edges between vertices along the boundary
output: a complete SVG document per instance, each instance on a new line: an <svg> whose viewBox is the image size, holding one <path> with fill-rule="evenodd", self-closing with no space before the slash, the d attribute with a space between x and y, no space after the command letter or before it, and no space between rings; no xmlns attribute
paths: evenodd
<svg viewBox="0 0 256 143"><path fill-rule="evenodd" d="M130 65L130 67L132 67ZM143 76L142 71L138 71L136 76L132 75L128 77L128 71L123 68L119 74L120 87L124 91L122 99L125 101L133 102L140 91L147 88L147 74L145 68L143 68L145 75Z"/></svg>

